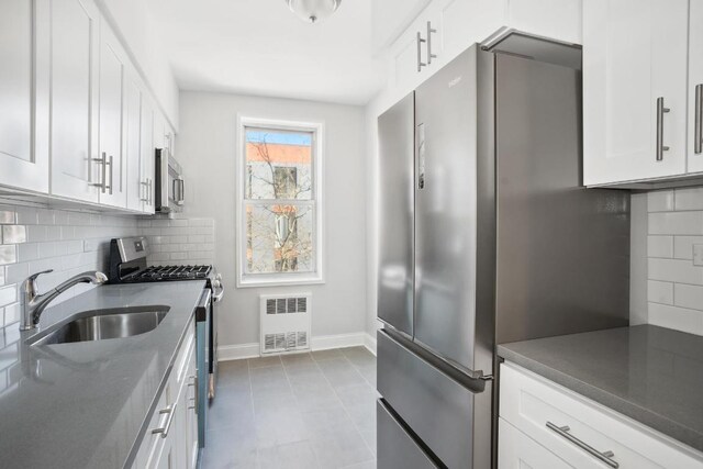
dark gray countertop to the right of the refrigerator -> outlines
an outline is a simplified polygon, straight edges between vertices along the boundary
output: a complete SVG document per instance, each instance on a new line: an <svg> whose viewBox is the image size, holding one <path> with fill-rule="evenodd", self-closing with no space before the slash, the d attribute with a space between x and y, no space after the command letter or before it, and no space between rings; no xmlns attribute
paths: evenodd
<svg viewBox="0 0 703 469"><path fill-rule="evenodd" d="M639 325L498 346L498 355L703 451L703 337Z"/></svg>

